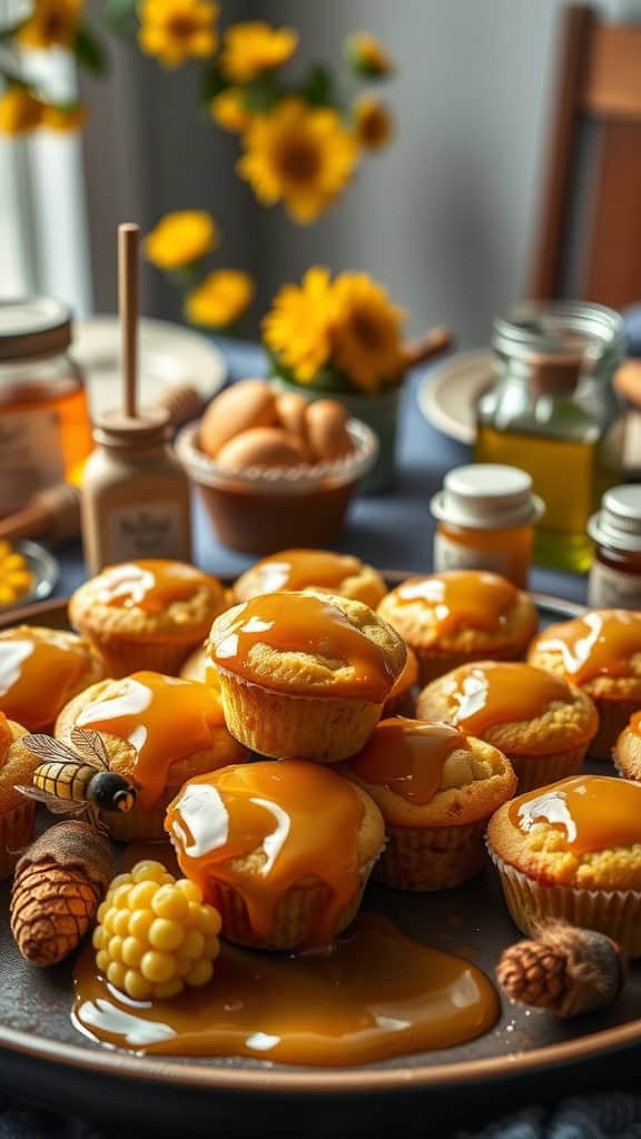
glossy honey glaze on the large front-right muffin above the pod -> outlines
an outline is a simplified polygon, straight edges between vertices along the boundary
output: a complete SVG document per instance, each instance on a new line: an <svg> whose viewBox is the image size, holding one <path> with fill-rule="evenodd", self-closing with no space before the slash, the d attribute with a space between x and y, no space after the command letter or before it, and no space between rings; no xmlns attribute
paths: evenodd
<svg viewBox="0 0 641 1139"><path fill-rule="evenodd" d="M537 823L559 830L577 854L641 843L641 785L611 776L576 776L519 795L510 821L524 834Z"/></svg>

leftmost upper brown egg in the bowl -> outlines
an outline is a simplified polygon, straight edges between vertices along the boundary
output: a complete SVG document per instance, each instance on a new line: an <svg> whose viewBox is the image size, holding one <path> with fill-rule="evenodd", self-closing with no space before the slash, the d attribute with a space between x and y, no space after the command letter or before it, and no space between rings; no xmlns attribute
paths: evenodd
<svg viewBox="0 0 641 1139"><path fill-rule="evenodd" d="M214 459L241 432L276 421L276 400L269 384L263 379L242 379L217 395L206 409L201 423L201 449Z"/></svg>

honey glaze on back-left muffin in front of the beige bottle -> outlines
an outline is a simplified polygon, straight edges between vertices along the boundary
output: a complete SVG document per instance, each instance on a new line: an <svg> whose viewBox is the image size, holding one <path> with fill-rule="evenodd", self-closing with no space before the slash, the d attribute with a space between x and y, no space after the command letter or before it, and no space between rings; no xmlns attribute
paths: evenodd
<svg viewBox="0 0 641 1139"><path fill-rule="evenodd" d="M186 601L197 589L211 584L211 577L184 562L143 558L103 570L97 600L100 605L162 613L173 601Z"/></svg>

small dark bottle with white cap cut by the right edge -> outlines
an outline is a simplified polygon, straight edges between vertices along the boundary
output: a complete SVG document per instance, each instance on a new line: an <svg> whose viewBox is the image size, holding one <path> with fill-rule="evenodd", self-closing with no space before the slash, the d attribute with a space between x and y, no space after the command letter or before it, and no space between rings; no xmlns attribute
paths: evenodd
<svg viewBox="0 0 641 1139"><path fill-rule="evenodd" d="M587 532L595 543L587 604L600 609L641 609L641 486L608 491Z"/></svg>

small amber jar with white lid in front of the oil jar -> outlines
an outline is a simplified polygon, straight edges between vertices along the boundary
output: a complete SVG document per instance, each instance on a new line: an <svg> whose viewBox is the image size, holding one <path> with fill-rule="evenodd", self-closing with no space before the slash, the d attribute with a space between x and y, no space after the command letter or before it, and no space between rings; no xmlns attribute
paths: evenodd
<svg viewBox="0 0 641 1139"><path fill-rule="evenodd" d="M534 526L545 511L527 472L497 462L456 467L445 476L430 507L438 522L437 573L489 570L527 585Z"/></svg>

